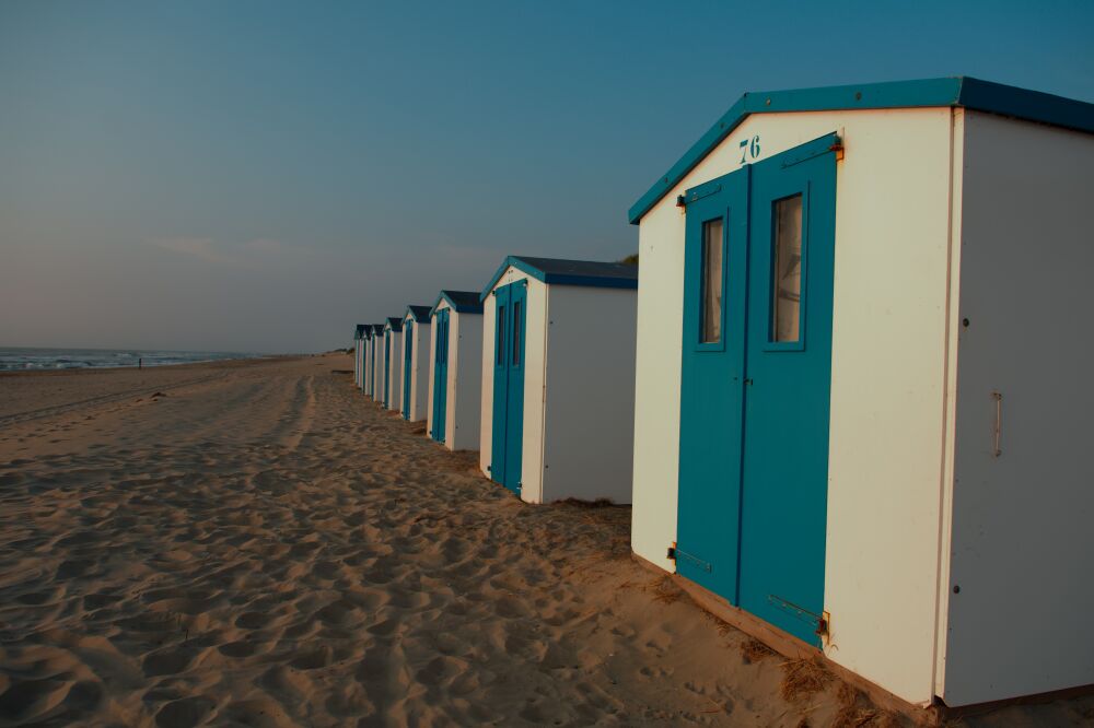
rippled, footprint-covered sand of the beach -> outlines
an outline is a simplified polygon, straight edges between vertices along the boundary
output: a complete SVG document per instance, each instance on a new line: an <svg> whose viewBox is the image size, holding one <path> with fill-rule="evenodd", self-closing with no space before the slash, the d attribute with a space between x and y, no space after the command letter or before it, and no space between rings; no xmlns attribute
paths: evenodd
<svg viewBox="0 0 1094 728"><path fill-rule="evenodd" d="M894 725L834 680L788 702L628 508L521 503L351 368L0 377L0 724Z"/></svg>

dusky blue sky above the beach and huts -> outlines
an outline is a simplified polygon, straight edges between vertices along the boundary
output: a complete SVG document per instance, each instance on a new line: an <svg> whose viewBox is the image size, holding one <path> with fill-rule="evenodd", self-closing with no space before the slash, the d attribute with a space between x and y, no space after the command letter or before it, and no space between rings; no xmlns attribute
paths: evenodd
<svg viewBox="0 0 1094 728"><path fill-rule="evenodd" d="M615 260L746 91L1094 102L1094 2L0 0L0 347L312 352Z"/></svg>

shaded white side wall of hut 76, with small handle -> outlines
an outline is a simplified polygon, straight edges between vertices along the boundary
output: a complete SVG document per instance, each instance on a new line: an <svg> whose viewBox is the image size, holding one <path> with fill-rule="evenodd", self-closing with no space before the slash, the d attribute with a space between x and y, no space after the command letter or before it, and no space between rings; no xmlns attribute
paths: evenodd
<svg viewBox="0 0 1094 728"><path fill-rule="evenodd" d="M1094 683L1094 136L965 113L943 698ZM1000 455L994 455L1000 392ZM954 586L961 591L953 592Z"/></svg>

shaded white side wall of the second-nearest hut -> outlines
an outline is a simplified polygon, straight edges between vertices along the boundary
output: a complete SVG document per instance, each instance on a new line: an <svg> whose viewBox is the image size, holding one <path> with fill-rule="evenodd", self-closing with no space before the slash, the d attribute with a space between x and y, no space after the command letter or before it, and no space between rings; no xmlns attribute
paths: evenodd
<svg viewBox="0 0 1094 728"><path fill-rule="evenodd" d="M633 290L547 292L543 501L631 501Z"/></svg>

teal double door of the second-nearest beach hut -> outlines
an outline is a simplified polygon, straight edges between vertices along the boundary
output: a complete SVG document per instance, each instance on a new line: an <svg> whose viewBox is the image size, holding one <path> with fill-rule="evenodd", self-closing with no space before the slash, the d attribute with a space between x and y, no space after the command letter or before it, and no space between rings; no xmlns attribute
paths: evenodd
<svg viewBox="0 0 1094 728"><path fill-rule="evenodd" d="M494 291L493 421L490 475L516 494L521 492L524 446L524 329L527 318L526 281Z"/></svg>

